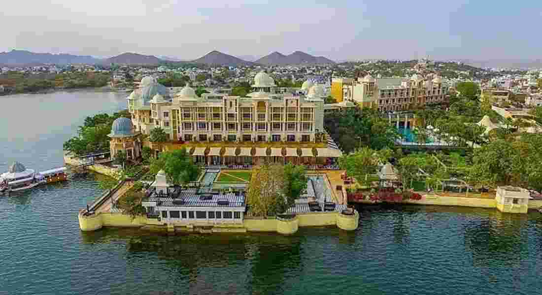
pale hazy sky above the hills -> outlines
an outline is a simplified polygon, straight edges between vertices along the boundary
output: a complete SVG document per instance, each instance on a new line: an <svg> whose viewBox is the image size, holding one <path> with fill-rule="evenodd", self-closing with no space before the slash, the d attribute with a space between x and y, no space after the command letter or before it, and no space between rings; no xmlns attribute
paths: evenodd
<svg viewBox="0 0 542 295"><path fill-rule="evenodd" d="M541 27L542 0L8 0L0 51L542 58Z"/></svg>

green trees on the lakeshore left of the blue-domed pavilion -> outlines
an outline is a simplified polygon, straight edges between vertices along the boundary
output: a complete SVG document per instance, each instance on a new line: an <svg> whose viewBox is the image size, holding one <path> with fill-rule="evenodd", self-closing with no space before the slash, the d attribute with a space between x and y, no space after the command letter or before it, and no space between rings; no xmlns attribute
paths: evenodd
<svg viewBox="0 0 542 295"><path fill-rule="evenodd" d="M75 155L84 155L96 150L109 149L109 137L113 121L119 117L130 117L127 110L109 114L98 114L85 118L83 126L79 126L77 136L64 142L63 148Z"/></svg>

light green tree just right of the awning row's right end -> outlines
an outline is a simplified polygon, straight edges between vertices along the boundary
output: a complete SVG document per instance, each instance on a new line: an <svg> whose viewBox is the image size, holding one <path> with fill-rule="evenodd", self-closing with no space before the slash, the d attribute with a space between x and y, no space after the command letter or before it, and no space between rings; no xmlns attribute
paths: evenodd
<svg viewBox="0 0 542 295"><path fill-rule="evenodd" d="M376 173L379 157L375 150L364 147L356 152L345 154L339 158L339 166L359 183L369 186L370 181L365 180L367 174ZM387 162L387 161L386 161Z"/></svg>

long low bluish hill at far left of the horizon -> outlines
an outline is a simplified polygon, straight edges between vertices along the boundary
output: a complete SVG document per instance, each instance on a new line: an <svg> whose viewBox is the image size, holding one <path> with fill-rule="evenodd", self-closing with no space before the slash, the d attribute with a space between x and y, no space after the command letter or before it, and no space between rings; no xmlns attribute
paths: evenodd
<svg viewBox="0 0 542 295"><path fill-rule="evenodd" d="M71 54L33 53L27 50L11 50L0 53L0 64L31 65L31 64L69 64L69 63L99 63L98 58Z"/></svg>

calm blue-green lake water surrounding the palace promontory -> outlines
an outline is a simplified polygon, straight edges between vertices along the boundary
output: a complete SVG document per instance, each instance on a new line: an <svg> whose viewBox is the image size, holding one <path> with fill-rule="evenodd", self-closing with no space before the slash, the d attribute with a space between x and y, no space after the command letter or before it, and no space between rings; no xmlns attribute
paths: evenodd
<svg viewBox="0 0 542 295"><path fill-rule="evenodd" d="M0 171L62 166L87 115L127 94L2 96ZM360 208L360 227L163 237L79 231L95 175L0 195L0 294L540 294L542 215L448 207ZM165 292L164 292L165 291ZM163 292L163 293L161 293Z"/></svg>

